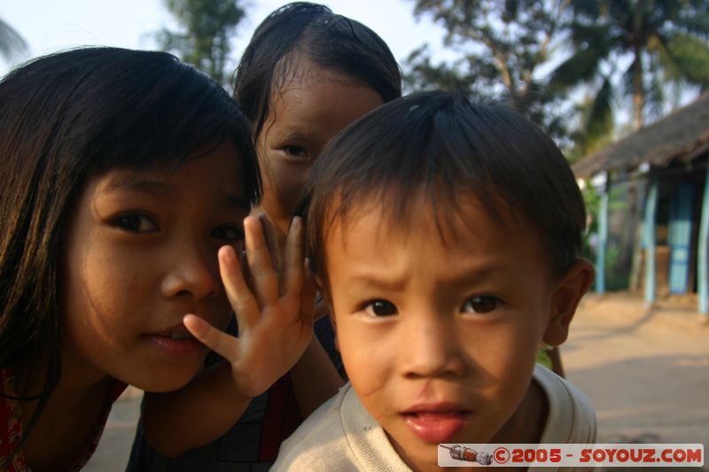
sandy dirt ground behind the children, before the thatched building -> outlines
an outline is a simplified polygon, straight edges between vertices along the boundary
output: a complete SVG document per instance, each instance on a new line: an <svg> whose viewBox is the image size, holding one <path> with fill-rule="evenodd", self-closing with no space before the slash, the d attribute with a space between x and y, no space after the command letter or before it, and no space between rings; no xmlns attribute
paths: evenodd
<svg viewBox="0 0 709 472"><path fill-rule="evenodd" d="M652 309L626 293L584 298L562 359L567 378L596 408L598 442L701 443L706 457L708 321L691 298L663 300ZM85 470L125 469L139 404L136 390L115 404Z"/></svg>

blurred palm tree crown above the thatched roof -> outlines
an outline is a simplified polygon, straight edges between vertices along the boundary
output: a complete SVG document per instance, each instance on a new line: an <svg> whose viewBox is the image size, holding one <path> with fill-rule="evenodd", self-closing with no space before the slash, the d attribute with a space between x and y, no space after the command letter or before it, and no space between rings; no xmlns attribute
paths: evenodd
<svg viewBox="0 0 709 472"><path fill-rule="evenodd" d="M585 109L587 143L610 132L613 97L632 97L637 129L666 104L667 84L709 87L706 0L572 0L570 11L573 53L550 83L593 90Z"/></svg>

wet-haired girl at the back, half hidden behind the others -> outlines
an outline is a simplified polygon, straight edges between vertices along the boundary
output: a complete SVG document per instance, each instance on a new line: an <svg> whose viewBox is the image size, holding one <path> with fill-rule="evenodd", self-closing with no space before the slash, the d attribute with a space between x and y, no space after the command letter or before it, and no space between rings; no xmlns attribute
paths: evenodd
<svg viewBox="0 0 709 472"><path fill-rule="evenodd" d="M363 114L400 97L401 74L370 28L323 5L294 3L272 12L254 32L238 66L235 95L252 124L263 171L261 210L285 234L325 144ZM129 469L268 468L284 438L342 383L332 368L339 355L327 317L316 322L316 335L320 343L311 342L290 375L254 398L219 440L168 460L139 429Z"/></svg>

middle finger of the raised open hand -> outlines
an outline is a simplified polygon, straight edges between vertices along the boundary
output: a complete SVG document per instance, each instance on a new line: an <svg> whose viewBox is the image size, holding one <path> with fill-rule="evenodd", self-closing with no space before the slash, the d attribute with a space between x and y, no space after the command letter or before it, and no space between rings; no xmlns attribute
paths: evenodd
<svg viewBox="0 0 709 472"><path fill-rule="evenodd" d="M246 260L253 278L254 295L259 306L267 306L278 298L278 275L271 262L261 222L253 216L247 216L244 220L244 230Z"/></svg>

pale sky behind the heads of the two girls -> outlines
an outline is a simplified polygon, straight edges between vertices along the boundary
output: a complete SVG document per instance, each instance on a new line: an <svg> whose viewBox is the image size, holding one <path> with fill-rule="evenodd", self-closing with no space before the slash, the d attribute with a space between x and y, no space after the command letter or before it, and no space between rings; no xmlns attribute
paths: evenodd
<svg viewBox="0 0 709 472"><path fill-rule="evenodd" d="M253 29L284 0L247 0L247 18L239 25L235 58ZM326 0L339 14L357 19L381 35L400 62L424 43L440 47L442 28L413 17L413 0ZM29 43L33 58L81 45L154 49L150 33L175 27L163 0L0 0L0 18ZM26 59L26 58L25 58ZM24 59L20 59L24 60ZM18 62L18 61L16 61ZM0 74L10 68L0 59Z"/></svg>

